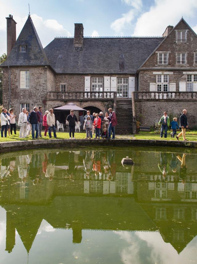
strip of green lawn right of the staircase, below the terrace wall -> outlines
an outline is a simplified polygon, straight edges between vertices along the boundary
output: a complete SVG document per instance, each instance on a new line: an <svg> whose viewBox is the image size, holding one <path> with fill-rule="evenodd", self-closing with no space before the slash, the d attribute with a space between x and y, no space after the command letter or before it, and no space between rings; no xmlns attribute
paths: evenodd
<svg viewBox="0 0 197 264"><path fill-rule="evenodd" d="M179 134L179 131L180 130L177 130L177 134ZM155 134L155 133L153 134L153 132L155 131L151 131L151 132L140 131L139 134L134 135L134 137L135 139L177 140L176 138L171 138L170 135L171 130L168 131L167 138L164 138L164 134L163 134L163 138L160 138L160 134ZM196 130L186 131L186 138L189 141L197 141L197 131ZM179 140L182 141L183 137L181 136Z"/></svg>

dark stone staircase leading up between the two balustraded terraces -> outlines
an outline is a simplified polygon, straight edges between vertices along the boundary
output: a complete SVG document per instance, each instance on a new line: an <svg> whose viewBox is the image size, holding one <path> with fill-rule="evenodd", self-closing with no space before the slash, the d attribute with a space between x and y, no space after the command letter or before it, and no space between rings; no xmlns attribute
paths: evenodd
<svg viewBox="0 0 197 264"><path fill-rule="evenodd" d="M116 134L132 134L133 130L133 113L131 99L118 99L116 101L116 117L118 125Z"/></svg>

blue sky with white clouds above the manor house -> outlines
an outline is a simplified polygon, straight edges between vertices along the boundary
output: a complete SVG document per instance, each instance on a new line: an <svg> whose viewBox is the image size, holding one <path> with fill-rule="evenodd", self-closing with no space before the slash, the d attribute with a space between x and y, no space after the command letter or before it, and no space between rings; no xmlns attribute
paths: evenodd
<svg viewBox="0 0 197 264"><path fill-rule="evenodd" d="M161 36L181 17L197 32L196 0L0 0L0 55L6 52L6 19L13 15L17 37L29 12L45 47L55 36L73 36L83 23L84 36Z"/></svg>

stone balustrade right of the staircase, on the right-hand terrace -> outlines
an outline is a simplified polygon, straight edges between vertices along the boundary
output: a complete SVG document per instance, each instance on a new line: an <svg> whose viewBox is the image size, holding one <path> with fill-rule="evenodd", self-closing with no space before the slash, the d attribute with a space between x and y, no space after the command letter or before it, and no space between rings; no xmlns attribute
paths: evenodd
<svg viewBox="0 0 197 264"><path fill-rule="evenodd" d="M197 100L197 92L134 92L135 100Z"/></svg>

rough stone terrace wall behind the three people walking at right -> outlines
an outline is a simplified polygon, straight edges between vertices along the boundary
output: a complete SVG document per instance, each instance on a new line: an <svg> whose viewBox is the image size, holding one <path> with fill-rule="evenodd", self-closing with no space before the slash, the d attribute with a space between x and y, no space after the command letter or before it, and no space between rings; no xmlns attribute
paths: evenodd
<svg viewBox="0 0 197 264"><path fill-rule="evenodd" d="M167 111L170 116L177 117L179 124L179 117L183 109L187 109L189 128L197 124L197 102L194 100L137 100L135 101L135 109L141 126L155 126L155 123L158 123L163 116L164 111Z"/></svg>

